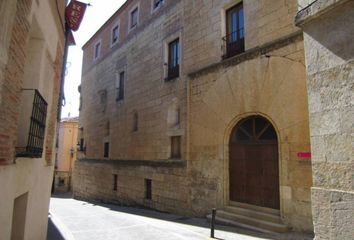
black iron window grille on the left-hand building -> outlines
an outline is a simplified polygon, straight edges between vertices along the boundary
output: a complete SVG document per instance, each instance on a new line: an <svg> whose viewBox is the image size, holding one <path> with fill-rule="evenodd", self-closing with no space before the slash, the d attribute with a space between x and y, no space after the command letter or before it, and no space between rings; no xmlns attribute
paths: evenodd
<svg viewBox="0 0 354 240"><path fill-rule="evenodd" d="M16 154L17 157L42 157L47 107L48 104L42 95L37 90L34 90L27 146L25 147L25 151L20 151Z"/></svg>

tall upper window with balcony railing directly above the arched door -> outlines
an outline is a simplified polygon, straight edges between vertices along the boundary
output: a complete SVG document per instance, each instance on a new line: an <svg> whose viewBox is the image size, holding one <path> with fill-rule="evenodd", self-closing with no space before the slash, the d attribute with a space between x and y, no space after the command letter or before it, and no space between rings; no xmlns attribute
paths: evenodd
<svg viewBox="0 0 354 240"><path fill-rule="evenodd" d="M226 44L224 58L245 51L244 37L243 4L239 3L226 11L226 36L223 38Z"/></svg>

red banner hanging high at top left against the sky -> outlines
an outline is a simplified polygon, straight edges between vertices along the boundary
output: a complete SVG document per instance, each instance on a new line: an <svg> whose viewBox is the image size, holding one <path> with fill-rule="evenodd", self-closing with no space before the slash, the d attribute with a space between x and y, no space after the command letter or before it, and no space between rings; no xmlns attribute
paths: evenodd
<svg viewBox="0 0 354 240"><path fill-rule="evenodd" d="M66 23L73 31L77 31L80 27L82 18L84 17L87 4L76 0L72 0L65 9Z"/></svg>

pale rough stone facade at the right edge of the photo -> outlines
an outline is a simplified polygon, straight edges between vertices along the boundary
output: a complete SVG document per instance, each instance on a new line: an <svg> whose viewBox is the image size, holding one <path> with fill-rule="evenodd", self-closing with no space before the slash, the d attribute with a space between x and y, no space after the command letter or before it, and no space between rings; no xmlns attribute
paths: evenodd
<svg viewBox="0 0 354 240"><path fill-rule="evenodd" d="M354 4L299 1L312 147L315 239L354 236Z"/></svg>

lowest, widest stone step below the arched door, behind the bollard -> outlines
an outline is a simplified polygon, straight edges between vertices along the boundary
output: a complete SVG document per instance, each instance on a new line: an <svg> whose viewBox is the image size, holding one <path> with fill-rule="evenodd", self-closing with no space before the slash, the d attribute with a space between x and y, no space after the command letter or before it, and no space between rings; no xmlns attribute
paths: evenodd
<svg viewBox="0 0 354 240"><path fill-rule="evenodd" d="M211 220L211 214L207 216ZM248 228L259 232L287 232L288 227L282 223L274 223L255 217L243 216L235 213L218 210L216 213L216 223Z"/></svg>

